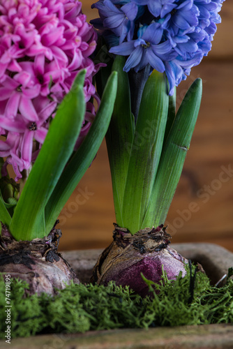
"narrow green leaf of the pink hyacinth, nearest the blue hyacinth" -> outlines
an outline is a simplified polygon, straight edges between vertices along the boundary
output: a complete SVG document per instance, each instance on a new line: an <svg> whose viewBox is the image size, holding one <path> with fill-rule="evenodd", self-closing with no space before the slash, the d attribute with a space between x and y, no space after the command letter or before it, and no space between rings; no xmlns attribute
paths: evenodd
<svg viewBox="0 0 233 349"><path fill-rule="evenodd" d="M117 73L114 72L107 81L100 107L89 133L61 174L57 186L47 202L45 208L46 233L52 229L61 209L96 156L110 124L116 94Z"/></svg>

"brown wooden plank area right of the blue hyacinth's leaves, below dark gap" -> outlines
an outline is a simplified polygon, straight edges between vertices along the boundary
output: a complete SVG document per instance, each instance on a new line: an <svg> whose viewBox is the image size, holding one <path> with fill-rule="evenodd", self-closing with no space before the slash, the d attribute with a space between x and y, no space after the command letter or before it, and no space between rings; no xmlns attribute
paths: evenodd
<svg viewBox="0 0 233 349"><path fill-rule="evenodd" d="M233 251L233 62L203 61L192 74L204 80L202 105L167 223L173 242L216 242Z"/></svg>

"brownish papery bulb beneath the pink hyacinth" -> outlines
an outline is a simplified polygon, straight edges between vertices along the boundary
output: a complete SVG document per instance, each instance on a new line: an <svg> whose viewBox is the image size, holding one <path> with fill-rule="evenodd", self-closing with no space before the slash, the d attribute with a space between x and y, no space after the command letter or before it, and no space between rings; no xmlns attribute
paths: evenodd
<svg viewBox="0 0 233 349"><path fill-rule="evenodd" d="M66 284L80 283L77 275L57 253L61 230L52 229L43 239L17 242L5 225L0 237L0 273L10 274L12 279L26 281L29 288L26 293L40 295L56 294L56 289L63 289Z"/></svg>

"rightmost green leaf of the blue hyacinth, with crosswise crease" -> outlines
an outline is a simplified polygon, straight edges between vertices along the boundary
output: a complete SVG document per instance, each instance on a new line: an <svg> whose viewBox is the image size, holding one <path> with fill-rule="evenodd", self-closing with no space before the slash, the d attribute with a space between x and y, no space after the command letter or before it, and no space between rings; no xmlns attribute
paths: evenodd
<svg viewBox="0 0 233 349"><path fill-rule="evenodd" d="M181 177L183 163L193 135L202 99L202 80L197 79L183 98L158 166L144 227L165 223L176 186Z"/></svg>

